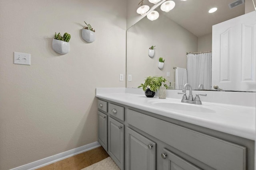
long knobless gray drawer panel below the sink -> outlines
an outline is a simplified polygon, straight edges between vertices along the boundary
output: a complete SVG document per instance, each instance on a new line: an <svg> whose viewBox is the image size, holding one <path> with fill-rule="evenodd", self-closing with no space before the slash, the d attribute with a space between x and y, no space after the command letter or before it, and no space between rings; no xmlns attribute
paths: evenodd
<svg viewBox="0 0 256 170"><path fill-rule="evenodd" d="M218 170L246 170L246 147L128 109L130 125Z"/></svg>

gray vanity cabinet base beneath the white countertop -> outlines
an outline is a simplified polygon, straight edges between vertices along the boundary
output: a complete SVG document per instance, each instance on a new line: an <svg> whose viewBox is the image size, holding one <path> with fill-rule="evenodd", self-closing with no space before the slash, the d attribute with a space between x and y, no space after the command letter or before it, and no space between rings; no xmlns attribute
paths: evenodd
<svg viewBox="0 0 256 170"><path fill-rule="evenodd" d="M254 141L98 100L98 141L121 170L253 170Z"/></svg>

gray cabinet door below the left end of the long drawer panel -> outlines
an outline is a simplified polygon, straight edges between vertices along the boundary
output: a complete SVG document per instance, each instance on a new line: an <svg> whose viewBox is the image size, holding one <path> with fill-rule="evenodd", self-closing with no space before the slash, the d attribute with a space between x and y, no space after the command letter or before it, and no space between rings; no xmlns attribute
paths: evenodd
<svg viewBox="0 0 256 170"><path fill-rule="evenodd" d="M127 128L128 170L155 170L156 143Z"/></svg>

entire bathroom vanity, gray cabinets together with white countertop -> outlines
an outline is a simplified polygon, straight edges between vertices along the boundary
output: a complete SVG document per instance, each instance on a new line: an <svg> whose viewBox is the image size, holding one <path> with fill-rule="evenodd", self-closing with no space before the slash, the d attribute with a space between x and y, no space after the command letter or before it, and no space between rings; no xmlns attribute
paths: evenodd
<svg viewBox="0 0 256 170"><path fill-rule="evenodd" d="M96 89L98 141L121 170L254 169L255 106L184 104L179 90L169 91L159 99L136 88Z"/></svg>

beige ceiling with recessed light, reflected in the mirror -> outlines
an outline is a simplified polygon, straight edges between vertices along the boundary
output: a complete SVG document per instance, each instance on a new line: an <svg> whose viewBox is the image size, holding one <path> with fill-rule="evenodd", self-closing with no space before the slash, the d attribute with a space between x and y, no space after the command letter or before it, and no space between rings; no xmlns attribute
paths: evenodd
<svg viewBox="0 0 256 170"><path fill-rule="evenodd" d="M160 8L157 9L160 14L159 17L161 15L167 16L197 37L210 34L212 32L212 25L244 14L245 8L245 5L241 4L230 9L228 5L236 0L173 1L175 2L175 7L170 12L162 12ZM152 6L148 0L144 0L144 4ZM210 8L213 7L217 7L218 10L211 14L208 13Z"/></svg>

